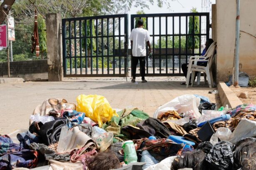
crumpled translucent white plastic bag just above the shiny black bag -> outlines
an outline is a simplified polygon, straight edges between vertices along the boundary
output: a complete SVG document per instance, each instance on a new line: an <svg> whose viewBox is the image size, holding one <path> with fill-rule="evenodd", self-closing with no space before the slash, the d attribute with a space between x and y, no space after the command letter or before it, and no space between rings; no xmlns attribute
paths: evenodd
<svg viewBox="0 0 256 170"><path fill-rule="evenodd" d="M221 141L229 141L229 137L232 134L231 130L229 130L229 128L225 128L225 127L220 127L217 129L217 131L215 132L215 134L213 134L211 136L210 142L212 145L215 145L216 143L218 143L218 138Z"/></svg>

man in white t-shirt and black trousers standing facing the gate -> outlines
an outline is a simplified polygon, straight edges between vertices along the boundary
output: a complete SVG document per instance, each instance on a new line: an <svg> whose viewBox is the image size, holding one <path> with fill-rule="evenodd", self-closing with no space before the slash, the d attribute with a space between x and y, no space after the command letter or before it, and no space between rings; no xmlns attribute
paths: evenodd
<svg viewBox="0 0 256 170"><path fill-rule="evenodd" d="M147 80L145 80L145 57L146 57L146 43L149 47L149 53L151 53L151 47L150 47L150 36L149 32L146 29L143 29L143 20L139 19L138 21L138 27L135 29L132 29L131 35L129 36L129 39L131 40L131 46L132 46L132 82L135 82L136 78L136 68L139 61L140 65L140 74L142 76L142 83L147 83Z"/></svg>

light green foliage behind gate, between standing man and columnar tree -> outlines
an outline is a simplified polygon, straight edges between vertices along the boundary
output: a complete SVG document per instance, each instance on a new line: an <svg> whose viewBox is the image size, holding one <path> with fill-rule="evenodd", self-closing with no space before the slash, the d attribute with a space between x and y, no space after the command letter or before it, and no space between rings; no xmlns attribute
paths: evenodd
<svg viewBox="0 0 256 170"><path fill-rule="evenodd" d="M155 44L155 48L159 48L159 41ZM152 44L152 43L151 43ZM161 49L166 48L166 38L161 38ZM172 48L172 37L167 36L167 48ZM179 36L174 36L174 48L179 48ZM186 36L181 36L181 49L186 49Z"/></svg>

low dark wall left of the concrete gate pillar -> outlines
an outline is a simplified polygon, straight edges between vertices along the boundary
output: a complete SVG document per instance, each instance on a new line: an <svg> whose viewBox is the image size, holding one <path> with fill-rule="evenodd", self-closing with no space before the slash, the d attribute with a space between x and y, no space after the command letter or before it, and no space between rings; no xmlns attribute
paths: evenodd
<svg viewBox="0 0 256 170"><path fill-rule="evenodd" d="M0 77L7 77L7 62L0 63ZM24 80L47 80L47 60L13 61L10 62L10 77Z"/></svg>

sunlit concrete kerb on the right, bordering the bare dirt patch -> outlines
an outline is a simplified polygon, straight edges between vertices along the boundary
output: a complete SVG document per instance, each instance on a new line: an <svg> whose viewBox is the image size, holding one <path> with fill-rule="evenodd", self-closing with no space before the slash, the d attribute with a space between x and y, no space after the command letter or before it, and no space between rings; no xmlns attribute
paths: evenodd
<svg viewBox="0 0 256 170"><path fill-rule="evenodd" d="M236 106L243 104L243 102L241 102L236 94L229 89L229 87L223 81L218 83L217 88L222 106L225 107L226 104L228 104L230 108L235 108Z"/></svg>

